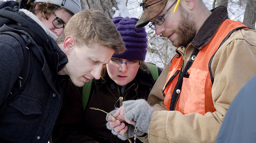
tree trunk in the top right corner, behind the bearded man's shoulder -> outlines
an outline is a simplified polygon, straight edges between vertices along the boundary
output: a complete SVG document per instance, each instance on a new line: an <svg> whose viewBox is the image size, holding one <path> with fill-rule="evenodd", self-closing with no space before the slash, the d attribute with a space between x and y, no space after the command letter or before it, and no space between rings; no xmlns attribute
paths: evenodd
<svg viewBox="0 0 256 143"><path fill-rule="evenodd" d="M251 29L255 29L256 22L256 0L248 0L245 8L243 23Z"/></svg>

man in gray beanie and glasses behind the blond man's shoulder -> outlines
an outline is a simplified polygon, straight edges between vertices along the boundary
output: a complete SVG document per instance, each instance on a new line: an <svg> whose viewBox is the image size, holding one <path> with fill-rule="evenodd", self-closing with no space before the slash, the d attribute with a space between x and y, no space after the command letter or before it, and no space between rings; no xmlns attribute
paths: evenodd
<svg viewBox="0 0 256 143"><path fill-rule="evenodd" d="M17 7L16 7L17 6ZM0 9L11 7L25 13L54 40L61 35L69 19L81 11L80 0L20 0L2 2ZM4 12L2 12L4 17ZM18 20L18 19L17 19ZM0 26L7 21L0 21Z"/></svg>

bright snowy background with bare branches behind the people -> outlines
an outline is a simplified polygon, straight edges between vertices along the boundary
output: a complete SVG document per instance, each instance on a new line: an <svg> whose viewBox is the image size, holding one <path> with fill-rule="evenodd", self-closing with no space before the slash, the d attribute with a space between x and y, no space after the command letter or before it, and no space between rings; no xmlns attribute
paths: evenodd
<svg viewBox="0 0 256 143"><path fill-rule="evenodd" d="M7 1L7 0L0 0ZM203 0L205 5L209 10L212 9L213 0ZM142 0L128 0L127 6L125 5L126 0L116 0L118 10L113 7L115 14L113 17L135 17L140 18L143 13L142 8L139 6ZM238 0L228 1L228 15L231 20L236 20L243 22L244 12L245 12L246 2L239 5ZM145 26L146 32L148 34L148 52L146 55L146 62L155 63L158 67L164 67L175 55L175 48L172 44L161 37L160 35L155 35L155 31ZM255 27L256 29L256 27ZM157 54L155 54L157 53Z"/></svg>

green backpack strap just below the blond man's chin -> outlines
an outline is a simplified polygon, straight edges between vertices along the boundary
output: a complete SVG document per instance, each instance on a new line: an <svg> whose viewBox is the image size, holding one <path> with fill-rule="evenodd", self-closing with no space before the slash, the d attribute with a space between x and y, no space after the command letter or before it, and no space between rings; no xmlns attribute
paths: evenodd
<svg viewBox="0 0 256 143"><path fill-rule="evenodd" d="M92 88L92 80L90 80L89 82L86 82L83 85L83 96L82 96L83 111L85 110L86 105L88 103L91 88Z"/></svg>

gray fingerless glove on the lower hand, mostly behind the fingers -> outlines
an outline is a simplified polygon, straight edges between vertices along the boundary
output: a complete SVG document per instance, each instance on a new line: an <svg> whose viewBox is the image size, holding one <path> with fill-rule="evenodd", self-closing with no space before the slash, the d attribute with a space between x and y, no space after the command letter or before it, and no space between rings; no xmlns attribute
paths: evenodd
<svg viewBox="0 0 256 143"><path fill-rule="evenodd" d="M114 115L117 109L118 109L118 108L116 108L115 110L113 110L113 111L111 111L111 112L109 112L109 113L112 114L112 115ZM106 121L108 121L108 116L110 116L110 115L107 114L107 116L106 116ZM114 128L111 128L111 127L109 126L109 123L110 123L110 122L111 122L111 121L108 121L108 122L106 123L107 129L111 130L111 133L113 133L114 135L116 135L117 137L119 137L121 140L127 140L126 133L125 133L124 135L120 135L119 132L115 132L115 131L114 131ZM127 124L127 123L126 123L126 125L128 126L128 129L127 129L128 137L129 137L129 138L134 137L134 133L135 133L135 132L134 132L134 129L135 129L135 126L134 126L134 125ZM141 131L138 130L138 131L136 132L136 134L137 134L137 136L142 136L142 135L144 134L144 132L141 132Z"/></svg>

